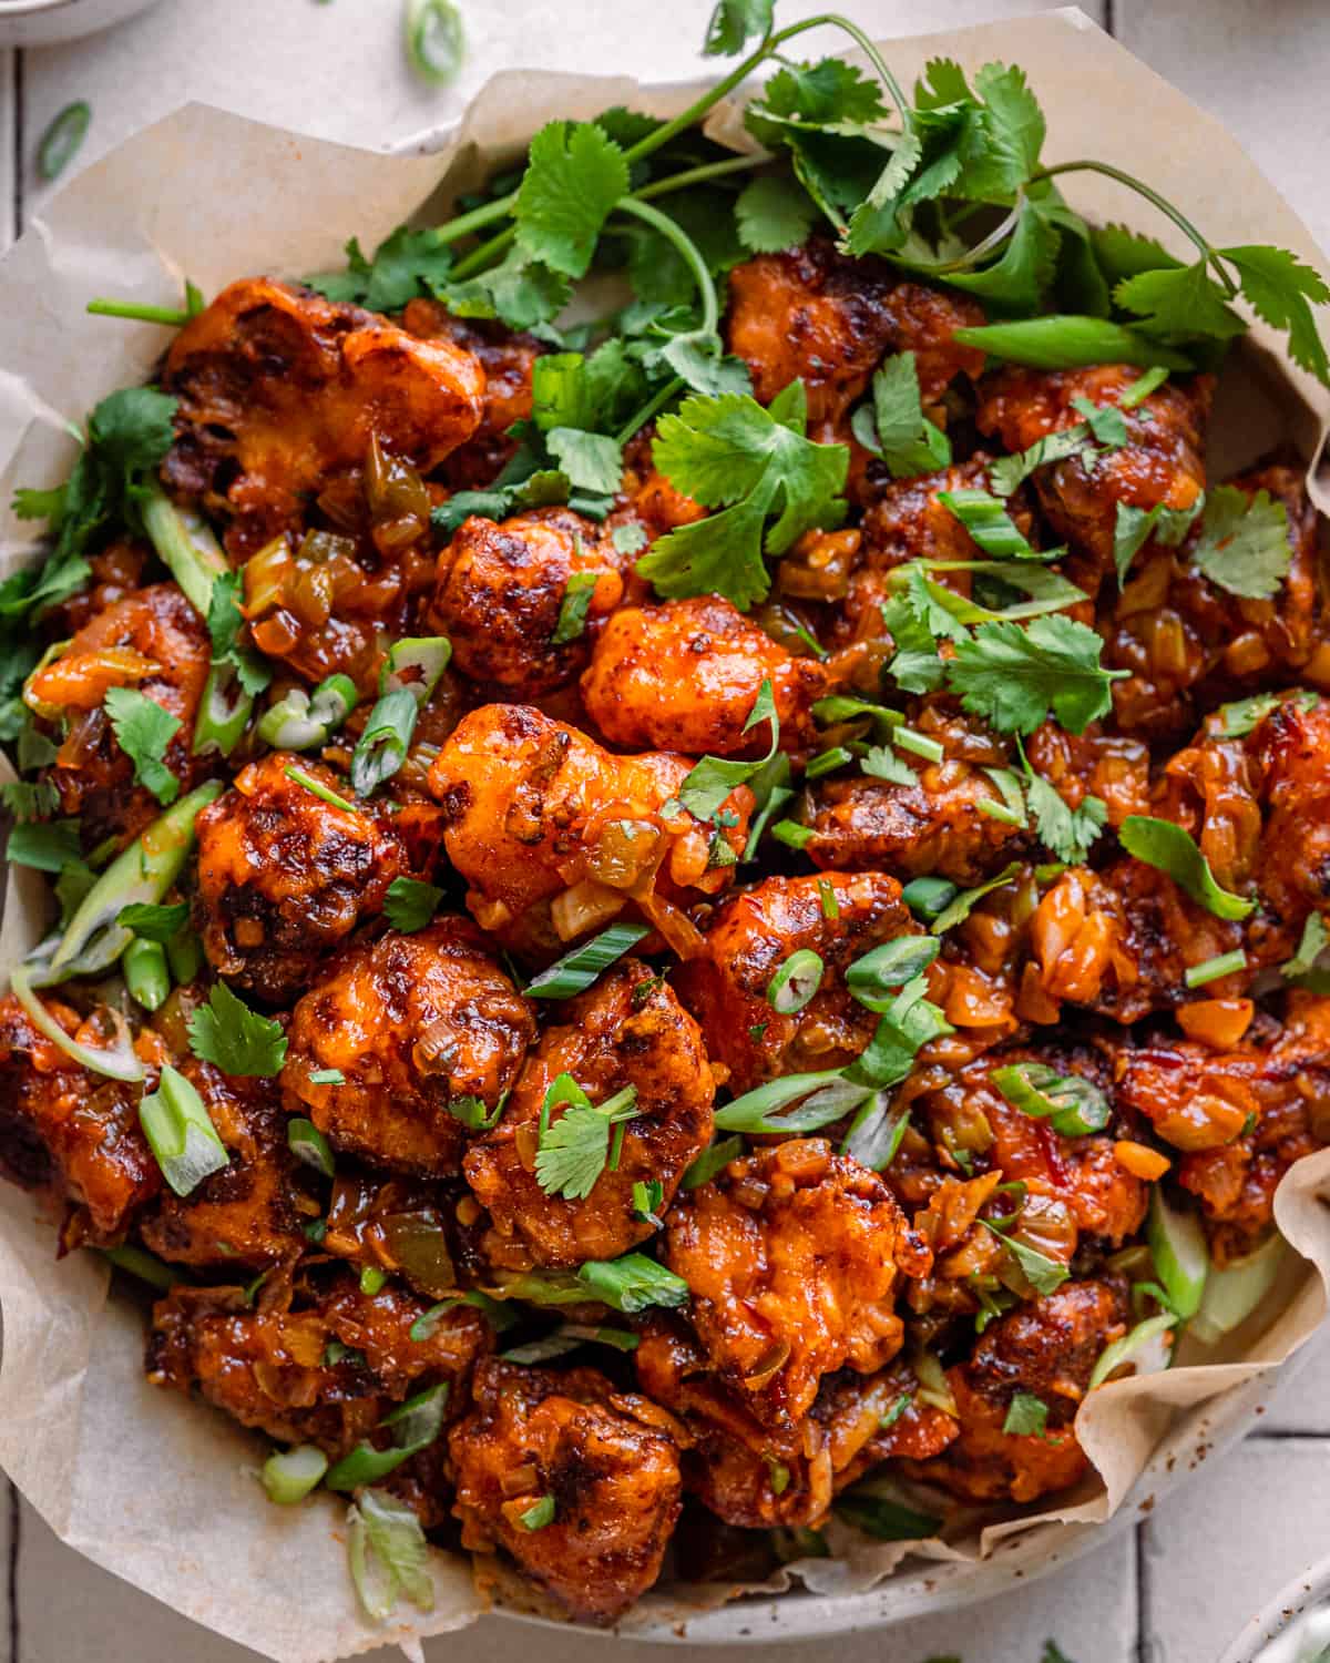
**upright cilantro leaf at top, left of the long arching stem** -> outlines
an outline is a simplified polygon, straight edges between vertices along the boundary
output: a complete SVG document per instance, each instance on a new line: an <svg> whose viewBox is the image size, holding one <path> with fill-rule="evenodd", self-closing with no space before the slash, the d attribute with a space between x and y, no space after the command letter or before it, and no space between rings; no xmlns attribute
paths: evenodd
<svg viewBox="0 0 1330 1663"><path fill-rule="evenodd" d="M567 278L584 278L620 196L628 163L592 121L550 121L530 141L517 188L517 246Z"/></svg>

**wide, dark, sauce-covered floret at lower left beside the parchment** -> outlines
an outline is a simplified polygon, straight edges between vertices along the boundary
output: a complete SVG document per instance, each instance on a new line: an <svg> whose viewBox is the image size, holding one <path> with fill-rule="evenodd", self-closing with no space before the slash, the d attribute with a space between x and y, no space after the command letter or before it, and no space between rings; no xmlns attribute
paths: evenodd
<svg viewBox="0 0 1330 1663"><path fill-rule="evenodd" d="M454 1305L414 1339L429 1309L394 1284L364 1294L346 1272L294 1297L288 1281L269 1279L253 1309L238 1287L176 1287L153 1307L148 1379L198 1389L243 1427L318 1443L336 1460L431 1385L447 1384L451 1412L461 1409L490 1329L479 1310Z"/></svg>

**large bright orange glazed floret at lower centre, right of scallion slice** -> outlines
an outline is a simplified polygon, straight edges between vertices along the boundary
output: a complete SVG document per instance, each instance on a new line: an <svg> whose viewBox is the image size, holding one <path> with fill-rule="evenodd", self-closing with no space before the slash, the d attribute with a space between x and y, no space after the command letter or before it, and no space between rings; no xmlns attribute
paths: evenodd
<svg viewBox="0 0 1330 1663"><path fill-rule="evenodd" d="M763 1425L801 1420L833 1369L871 1374L901 1347L904 1219L886 1184L821 1137L732 1161L678 1199L667 1264L720 1380Z"/></svg>

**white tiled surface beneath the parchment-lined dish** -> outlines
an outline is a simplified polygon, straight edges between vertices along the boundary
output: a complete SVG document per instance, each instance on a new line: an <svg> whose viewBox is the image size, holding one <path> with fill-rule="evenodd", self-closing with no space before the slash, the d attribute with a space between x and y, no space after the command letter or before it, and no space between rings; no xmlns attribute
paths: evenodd
<svg viewBox="0 0 1330 1663"><path fill-rule="evenodd" d="M291 120L301 85L308 126L331 138L372 130L407 140L457 113L495 68L584 72L570 17L603 13L605 70L675 78L698 68L710 0L462 0L472 52L462 81L427 91L402 68L397 0L165 0L81 45L0 53L0 244L40 190L37 140L71 98L93 105L81 161L188 98ZM1034 10L1032 0L848 0L871 32ZM793 18L821 0L783 0ZM1322 246L1330 248L1330 0L1104 0L1092 15L1207 105L1247 143ZM313 93L313 96L311 96ZM1119 111L1130 120L1130 111ZM22 151L15 166L15 151ZM206 211L206 205L201 205ZM836 1641L843 1663L1039 1663L1054 1638L1074 1663L1215 1663L1242 1623L1315 1558L1330 1555L1330 1337L1287 1384L1254 1437L1215 1460L1149 1520L1061 1577L958 1616L889 1636ZM17 1520L17 1528L12 1527ZM239 1596L243 1591L238 1590ZM318 1596L306 1590L306 1596ZM509 1663L539 1646L544 1663L592 1663L597 1641L487 1620L426 1646L429 1663ZM788 1663L825 1645L783 1648ZM381 1663L394 1653L376 1653ZM608 1653L607 1653L608 1656ZM670 1653L700 1663L703 1648ZM246 1663L214 1640L63 1548L0 1488L0 1663ZM613 1643L617 1663L665 1663L657 1648Z"/></svg>

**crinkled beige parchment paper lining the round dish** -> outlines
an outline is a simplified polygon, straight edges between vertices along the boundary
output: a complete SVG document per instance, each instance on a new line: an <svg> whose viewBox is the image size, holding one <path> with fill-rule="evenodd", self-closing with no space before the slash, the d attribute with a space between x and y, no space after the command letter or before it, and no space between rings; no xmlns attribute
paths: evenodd
<svg viewBox="0 0 1330 1663"><path fill-rule="evenodd" d="M991 58L1029 72L1049 118L1046 155L1114 161L1185 205L1215 243L1277 243L1325 268L1323 256L1239 145L1180 93L1137 63L1079 12L958 30L884 47L913 78L948 53L969 70ZM587 60L595 62L589 42ZM472 105L434 156L384 156L296 136L218 110L190 106L141 133L76 180L0 264L0 497L17 484L62 479L73 459L65 421L81 422L118 386L150 376L168 331L88 318L85 303L115 294L180 304L185 276L204 294L253 273L301 276L341 263L341 244L366 246L404 218L426 221L552 116L585 118L633 103L662 115L685 88L640 91L607 76L507 73ZM717 123L725 128L723 115ZM1104 180L1062 181L1097 220L1129 220L1170 241L1170 226ZM1180 253L1184 249L1179 249ZM1219 412L1220 466L1292 437L1320 452L1330 399L1308 376L1262 348L1242 349ZM1318 491L1322 507L1327 494ZM5 514L0 572L32 554L32 529ZM45 925L42 880L8 875L0 965L12 965ZM939 1578L978 1575L984 1553L1024 1562L1059 1557L1064 1522L1099 1522L1119 1507L1179 1417L1250 1380L1302 1345L1327 1309L1330 1151L1300 1162L1280 1186L1278 1224L1303 1256L1244 1330L1202 1365L1184 1352L1164 1375L1114 1384L1082 1407L1077 1432L1094 1463L1071 1503L1037 1520L971 1528L926 1555L949 1560ZM0 1465L65 1542L185 1615L278 1663L323 1663L472 1621L484 1605L462 1560L434 1555L437 1608L401 1625L361 1616L344 1562L342 1508L316 1498L269 1507L254 1468L259 1445L221 1415L146 1384L143 1315L106 1300L105 1269L86 1254L55 1262L55 1236L30 1197L0 1186ZM1259 1332L1252 1332L1252 1330ZM1011 1533L1021 1533L1019 1543ZM843 1537L836 1537L843 1543ZM815 1562L820 1591L871 1587L908 1550L858 1545ZM919 1550L913 1550L919 1552ZM959 1563L958 1563L959 1562ZM725 1590L668 1588L632 1626L677 1620Z"/></svg>

